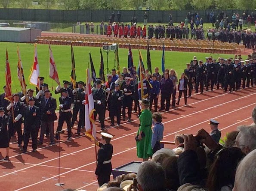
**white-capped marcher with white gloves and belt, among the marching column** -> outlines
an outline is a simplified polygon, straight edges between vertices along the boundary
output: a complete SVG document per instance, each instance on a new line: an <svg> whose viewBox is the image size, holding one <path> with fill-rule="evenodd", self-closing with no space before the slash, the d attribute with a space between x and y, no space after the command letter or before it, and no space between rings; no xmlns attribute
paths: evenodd
<svg viewBox="0 0 256 191"><path fill-rule="evenodd" d="M123 86L123 120L125 121L125 109L128 108L128 122L131 122L132 118L132 106L133 106L133 92L134 87L131 85L132 78L126 77L125 79L125 85Z"/></svg>

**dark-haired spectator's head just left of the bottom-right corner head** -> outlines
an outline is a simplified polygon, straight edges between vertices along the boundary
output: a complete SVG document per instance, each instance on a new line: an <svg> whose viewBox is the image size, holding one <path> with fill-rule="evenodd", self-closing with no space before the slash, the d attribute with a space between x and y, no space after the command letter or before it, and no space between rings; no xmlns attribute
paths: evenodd
<svg viewBox="0 0 256 191"><path fill-rule="evenodd" d="M220 150L210 167L206 187L209 191L231 191L234 187L234 176L237 164L244 153L237 147Z"/></svg>

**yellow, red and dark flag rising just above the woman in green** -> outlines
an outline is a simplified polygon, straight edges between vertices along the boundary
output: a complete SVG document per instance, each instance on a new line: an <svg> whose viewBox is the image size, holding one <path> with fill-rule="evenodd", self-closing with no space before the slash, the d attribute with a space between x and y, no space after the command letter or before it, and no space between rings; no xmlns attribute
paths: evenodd
<svg viewBox="0 0 256 191"><path fill-rule="evenodd" d="M147 90L147 84L146 84L146 75L145 75L145 68L142 60L142 54L139 50L139 82L138 82L138 93L139 93L139 100L142 100L143 98L148 97L148 93L144 90Z"/></svg>

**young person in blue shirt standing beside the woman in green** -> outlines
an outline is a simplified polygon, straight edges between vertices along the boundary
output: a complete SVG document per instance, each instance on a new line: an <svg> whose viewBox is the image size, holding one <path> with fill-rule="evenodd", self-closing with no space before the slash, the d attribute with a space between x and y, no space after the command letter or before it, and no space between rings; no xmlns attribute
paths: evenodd
<svg viewBox="0 0 256 191"><path fill-rule="evenodd" d="M152 118L154 121L154 127L152 132L151 146L154 154L157 152L157 150L163 148L163 144L160 143L160 140L163 140L162 114L160 112L155 112L153 113Z"/></svg>

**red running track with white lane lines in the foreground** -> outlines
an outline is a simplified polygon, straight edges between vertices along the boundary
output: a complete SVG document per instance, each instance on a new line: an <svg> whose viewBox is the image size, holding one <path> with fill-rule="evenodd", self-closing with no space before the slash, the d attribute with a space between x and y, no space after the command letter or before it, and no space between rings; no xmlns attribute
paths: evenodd
<svg viewBox="0 0 256 191"><path fill-rule="evenodd" d="M205 128L210 132L208 122L211 118L220 122L219 129L222 131L222 137L228 131L235 130L237 125L251 124L251 112L256 106L255 95L255 87L234 93L214 90L214 92L202 95L193 94L191 98L188 98L188 106L179 106L162 113L165 127L164 140L173 141L176 133L195 134L200 128ZM120 127L108 128L108 133L114 136L111 141L114 146L112 158L114 168L130 161L141 161L136 157L134 140L139 120L135 114L132 119L132 122L123 122ZM109 125L108 120L105 122ZM99 130L98 122L96 126ZM99 133L100 131L98 131L98 137L100 137ZM44 144L40 146L38 152L20 154L16 143L13 143L10 145L11 162L0 162L1 191L58 191L65 188L95 191L98 185L94 175L96 162L93 142L84 135L67 140L65 133L62 135L60 146L61 182L64 182L66 186L60 188L54 185L58 182L57 145ZM171 148L171 146L167 147ZM31 145L28 150L31 151Z"/></svg>

